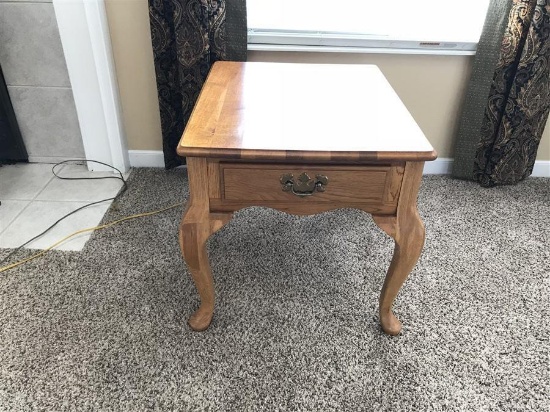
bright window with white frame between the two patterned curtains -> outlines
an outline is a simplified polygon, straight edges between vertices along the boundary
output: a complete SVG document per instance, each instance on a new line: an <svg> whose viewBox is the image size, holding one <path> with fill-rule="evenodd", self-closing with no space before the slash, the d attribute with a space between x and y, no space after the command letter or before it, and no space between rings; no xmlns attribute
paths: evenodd
<svg viewBox="0 0 550 412"><path fill-rule="evenodd" d="M489 0L247 0L251 50L474 54Z"/></svg>

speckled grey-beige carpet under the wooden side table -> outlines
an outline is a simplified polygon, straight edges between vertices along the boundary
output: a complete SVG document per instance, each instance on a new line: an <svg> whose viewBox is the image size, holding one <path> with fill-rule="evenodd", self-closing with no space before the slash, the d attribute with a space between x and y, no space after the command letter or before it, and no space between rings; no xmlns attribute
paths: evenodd
<svg viewBox="0 0 550 412"><path fill-rule="evenodd" d="M104 221L187 197L184 170L136 169ZM397 337L377 319L393 241L355 210L236 213L202 333L183 207L2 273L0 410L549 410L550 180L425 177L419 209Z"/></svg>

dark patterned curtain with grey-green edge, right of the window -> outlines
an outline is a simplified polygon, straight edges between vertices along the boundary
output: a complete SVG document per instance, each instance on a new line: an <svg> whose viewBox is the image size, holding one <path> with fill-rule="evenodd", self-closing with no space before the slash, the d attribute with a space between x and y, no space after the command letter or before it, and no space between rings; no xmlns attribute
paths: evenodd
<svg viewBox="0 0 550 412"><path fill-rule="evenodd" d="M496 68L490 83L484 83L480 73L487 57L480 40L455 147L453 175L487 187L531 175L550 110L549 0L506 1L499 4L500 14L508 18Z"/></svg>

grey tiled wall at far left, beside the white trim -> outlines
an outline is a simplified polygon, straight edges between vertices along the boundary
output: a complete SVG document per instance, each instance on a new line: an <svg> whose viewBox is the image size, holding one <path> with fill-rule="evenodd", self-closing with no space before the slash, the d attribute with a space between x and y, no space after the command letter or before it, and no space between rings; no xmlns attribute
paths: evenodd
<svg viewBox="0 0 550 412"><path fill-rule="evenodd" d="M84 157L51 0L0 0L0 64L29 160Z"/></svg>

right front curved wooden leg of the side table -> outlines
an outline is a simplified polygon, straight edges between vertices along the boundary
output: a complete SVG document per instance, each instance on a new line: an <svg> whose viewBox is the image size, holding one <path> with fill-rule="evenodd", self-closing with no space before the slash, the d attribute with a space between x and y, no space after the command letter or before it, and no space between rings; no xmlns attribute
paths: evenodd
<svg viewBox="0 0 550 412"><path fill-rule="evenodd" d="M373 216L376 224L395 240L379 303L380 324L388 335L397 335L401 331L401 322L391 308L424 247L424 224L416 207L423 168L424 162L408 162L405 166L397 216Z"/></svg>

